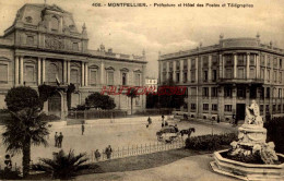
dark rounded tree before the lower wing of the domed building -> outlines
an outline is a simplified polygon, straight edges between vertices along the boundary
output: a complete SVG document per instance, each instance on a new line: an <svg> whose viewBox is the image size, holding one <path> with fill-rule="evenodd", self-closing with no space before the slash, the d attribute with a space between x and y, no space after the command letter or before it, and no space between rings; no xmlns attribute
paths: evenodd
<svg viewBox="0 0 284 181"><path fill-rule="evenodd" d="M85 99L85 105L91 108L114 109L116 107L114 98L99 93L91 94Z"/></svg>

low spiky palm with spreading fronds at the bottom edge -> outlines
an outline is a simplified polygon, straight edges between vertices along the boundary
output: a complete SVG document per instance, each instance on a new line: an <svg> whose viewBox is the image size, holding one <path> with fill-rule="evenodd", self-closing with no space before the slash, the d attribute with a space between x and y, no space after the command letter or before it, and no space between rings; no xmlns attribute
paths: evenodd
<svg viewBox="0 0 284 181"><path fill-rule="evenodd" d="M68 155L61 149L54 159L39 158L42 164L33 165L33 170L46 171L52 174L52 179L72 179L78 171L90 168L90 165L83 165L88 159L86 154L74 155L70 150Z"/></svg>

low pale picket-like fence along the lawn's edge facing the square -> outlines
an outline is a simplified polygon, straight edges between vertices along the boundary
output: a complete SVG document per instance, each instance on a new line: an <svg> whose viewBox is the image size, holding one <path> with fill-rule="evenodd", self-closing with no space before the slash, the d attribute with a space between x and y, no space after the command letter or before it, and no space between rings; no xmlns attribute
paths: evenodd
<svg viewBox="0 0 284 181"><path fill-rule="evenodd" d="M185 140L178 138L173 143L156 142L150 144L132 145L122 148L121 147L115 149L113 148L109 158L107 157L105 149L99 152L100 154L99 158L95 157L95 150L91 150L90 154L86 155L86 157L88 158L88 164L92 164L92 162L105 161L109 159L117 159L117 158L146 155L146 154L158 153L158 152L170 150L170 149L178 149L182 147L185 147Z"/></svg>

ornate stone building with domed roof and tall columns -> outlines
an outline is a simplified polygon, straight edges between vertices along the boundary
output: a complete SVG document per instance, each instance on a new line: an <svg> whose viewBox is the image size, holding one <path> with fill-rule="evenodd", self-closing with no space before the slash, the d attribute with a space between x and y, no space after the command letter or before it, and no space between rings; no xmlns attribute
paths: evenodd
<svg viewBox="0 0 284 181"><path fill-rule="evenodd" d="M70 12L57 5L23 5L0 37L0 108L5 106L8 89L19 85L37 88L40 84L56 85L58 80L64 87L73 83L76 90L71 96L72 107L83 104L87 95L100 92L103 86L144 85L144 53L115 53L103 45L90 50L87 45L85 25L79 31ZM118 109L130 109L126 95L114 98ZM144 108L144 96L135 99L134 109ZM67 110L66 92L59 90L44 109L62 116Z"/></svg>

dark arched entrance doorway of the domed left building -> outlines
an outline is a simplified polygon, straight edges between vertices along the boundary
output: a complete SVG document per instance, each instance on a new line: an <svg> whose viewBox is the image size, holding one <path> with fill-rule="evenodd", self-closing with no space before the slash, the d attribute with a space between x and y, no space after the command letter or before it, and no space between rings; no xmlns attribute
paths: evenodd
<svg viewBox="0 0 284 181"><path fill-rule="evenodd" d="M61 95L58 92L48 98L48 114L61 118Z"/></svg>

